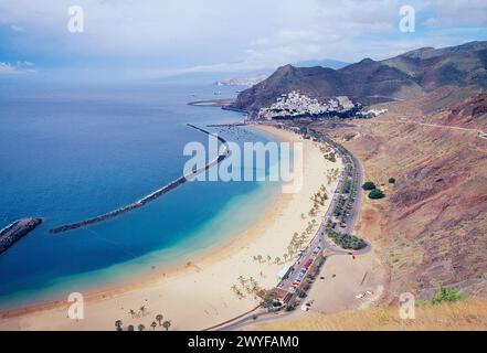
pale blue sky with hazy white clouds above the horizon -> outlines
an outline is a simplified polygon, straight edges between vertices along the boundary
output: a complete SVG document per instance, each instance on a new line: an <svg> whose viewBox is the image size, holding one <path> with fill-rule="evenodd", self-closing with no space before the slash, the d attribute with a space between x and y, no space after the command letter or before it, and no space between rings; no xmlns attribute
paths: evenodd
<svg viewBox="0 0 487 353"><path fill-rule="evenodd" d="M70 32L68 9L83 9ZM415 31L400 31L403 6ZM487 1L0 0L0 79L158 79L487 40Z"/></svg>

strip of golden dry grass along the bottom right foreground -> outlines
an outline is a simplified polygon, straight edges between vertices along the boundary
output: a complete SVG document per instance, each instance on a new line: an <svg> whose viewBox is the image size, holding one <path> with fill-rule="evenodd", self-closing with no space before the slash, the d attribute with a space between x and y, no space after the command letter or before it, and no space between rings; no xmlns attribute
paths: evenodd
<svg viewBox="0 0 487 353"><path fill-rule="evenodd" d="M415 320L401 320L398 308L369 309L252 325L247 330L265 331L385 331L385 330L486 330L487 301L468 300L456 303L420 306Z"/></svg>

